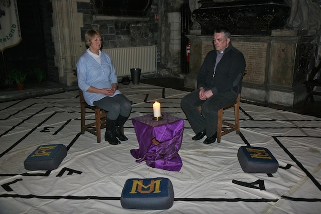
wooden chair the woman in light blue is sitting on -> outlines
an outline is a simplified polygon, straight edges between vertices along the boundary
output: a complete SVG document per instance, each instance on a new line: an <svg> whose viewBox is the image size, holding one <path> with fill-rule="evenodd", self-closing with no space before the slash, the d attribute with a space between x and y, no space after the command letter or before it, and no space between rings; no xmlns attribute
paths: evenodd
<svg viewBox="0 0 321 214"><path fill-rule="evenodd" d="M101 141L101 129L106 128L106 116L107 113L105 110L100 109L96 106L88 105L84 99L84 95L80 89L79 98L80 98L80 114L81 114L81 134L84 134L85 131L88 131L97 136L97 143ZM95 112L95 122L86 124L86 109L90 109Z"/></svg>

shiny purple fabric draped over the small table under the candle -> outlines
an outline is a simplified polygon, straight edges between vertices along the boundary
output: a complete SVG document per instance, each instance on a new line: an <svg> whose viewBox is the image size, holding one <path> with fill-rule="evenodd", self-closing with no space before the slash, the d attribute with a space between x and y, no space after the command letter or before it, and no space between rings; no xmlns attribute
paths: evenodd
<svg viewBox="0 0 321 214"><path fill-rule="evenodd" d="M139 149L132 149L130 153L140 163L153 168L169 171L180 171L182 159L178 154L181 148L184 120L170 114L164 114L163 120L152 120L152 115L132 118ZM155 145L152 139L161 142Z"/></svg>

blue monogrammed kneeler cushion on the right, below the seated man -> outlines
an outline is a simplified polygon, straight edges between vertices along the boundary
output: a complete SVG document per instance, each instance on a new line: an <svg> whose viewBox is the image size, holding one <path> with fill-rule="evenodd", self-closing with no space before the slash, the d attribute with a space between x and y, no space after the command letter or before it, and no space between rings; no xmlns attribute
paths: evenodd
<svg viewBox="0 0 321 214"><path fill-rule="evenodd" d="M272 153L263 147L241 146L237 158L247 173L275 173L279 166Z"/></svg>

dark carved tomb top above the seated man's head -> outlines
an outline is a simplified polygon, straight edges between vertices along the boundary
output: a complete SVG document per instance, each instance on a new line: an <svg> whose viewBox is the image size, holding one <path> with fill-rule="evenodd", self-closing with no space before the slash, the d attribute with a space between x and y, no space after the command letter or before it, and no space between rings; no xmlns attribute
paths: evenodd
<svg viewBox="0 0 321 214"><path fill-rule="evenodd" d="M234 35L271 35L283 29L290 16L284 0L201 0L192 16L202 26L202 34L212 34L217 26L226 26Z"/></svg>

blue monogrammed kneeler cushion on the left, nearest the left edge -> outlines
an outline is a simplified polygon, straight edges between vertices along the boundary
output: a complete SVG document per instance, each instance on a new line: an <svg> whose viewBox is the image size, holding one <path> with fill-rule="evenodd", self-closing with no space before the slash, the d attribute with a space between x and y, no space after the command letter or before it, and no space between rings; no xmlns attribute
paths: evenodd
<svg viewBox="0 0 321 214"><path fill-rule="evenodd" d="M24 161L25 169L53 170L66 156L67 149L63 144L41 145Z"/></svg>

